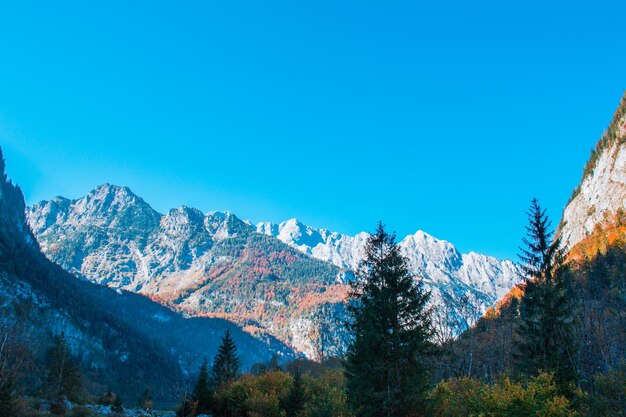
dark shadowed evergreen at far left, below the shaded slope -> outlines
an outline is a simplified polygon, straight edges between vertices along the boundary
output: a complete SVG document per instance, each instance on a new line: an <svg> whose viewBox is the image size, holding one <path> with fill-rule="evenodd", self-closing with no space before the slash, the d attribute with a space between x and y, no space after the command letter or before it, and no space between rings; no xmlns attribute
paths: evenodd
<svg viewBox="0 0 626 417"><path fill-rule="evenodd" d="M63 334L56 336L48 349L45 390L54 400L67 398L77 401L80 398L82 391L80 368L72 357Z"/></svg>

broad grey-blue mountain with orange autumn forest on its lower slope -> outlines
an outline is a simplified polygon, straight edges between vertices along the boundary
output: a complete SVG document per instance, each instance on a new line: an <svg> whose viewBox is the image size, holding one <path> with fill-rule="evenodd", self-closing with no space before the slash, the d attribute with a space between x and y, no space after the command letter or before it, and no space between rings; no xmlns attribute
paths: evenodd
<svg viewBox="0 0 626 417"><path fill-rule="evenodd" d="M42 251L81 278L187 316L231 320L310 356L320 311L340 314L334 304L347 292L339 268L256 233L232 213L182 206L162 215L127 187L57 197L28 208L27 218ZM345 332L335 327L335 345L343 346Z"/></svg>

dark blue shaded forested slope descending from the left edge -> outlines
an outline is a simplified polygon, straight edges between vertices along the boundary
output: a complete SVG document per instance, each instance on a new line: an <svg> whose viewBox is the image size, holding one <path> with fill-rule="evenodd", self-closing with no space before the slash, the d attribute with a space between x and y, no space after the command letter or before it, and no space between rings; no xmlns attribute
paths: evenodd
<svg viewBox="0 0 626 417"><path fill-rule="evenodd" d="M212 355L226 329L245 352L245 367L292 354L273 338L258 340L225 320L185 319L141 295L76 279L40 252L1 153L0 164L2 389L45 390L46 351L61 335L80 364L86 391L114 388L133 398L148 386L155 398L177 398L185 362L195 366ZM15 355L19 366L7 374L4 365Z"/></svg>

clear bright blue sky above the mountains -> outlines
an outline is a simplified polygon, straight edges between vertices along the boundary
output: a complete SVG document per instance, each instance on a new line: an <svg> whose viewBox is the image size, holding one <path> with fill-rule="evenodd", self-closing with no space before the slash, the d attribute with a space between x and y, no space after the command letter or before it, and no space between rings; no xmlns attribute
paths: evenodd
<svg viewBox="0 0 626 417"><path fill-rule="evenodd" d="M514 258L626 88L623 0L11 3L0 145L31 204L110 182Z"/></svg>

